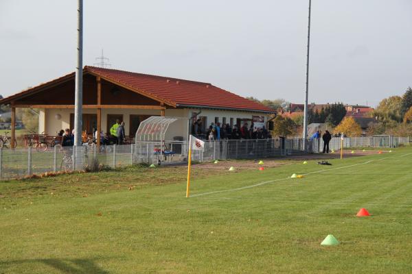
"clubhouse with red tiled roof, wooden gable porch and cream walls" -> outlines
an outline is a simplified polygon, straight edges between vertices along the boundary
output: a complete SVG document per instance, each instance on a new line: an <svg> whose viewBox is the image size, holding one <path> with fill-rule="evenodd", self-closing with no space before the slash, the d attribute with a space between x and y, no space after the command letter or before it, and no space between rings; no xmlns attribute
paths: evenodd
<svg viewBox="0 0 412 274"><path fill-rule="evenodd" d="M39 133L56 135L60 129L73 129L74 90L75 73L70 73L1 99L0 104L12 106L12 135L16 108L40 110ZM108 132L119 119L126 124L126 135L134 136L149 116L190 119L200 111L197 119L203 120L203 127L217 121L240 125L262 116L266 123L268 114L275 112L208 83L93 66L83 69L83 130L87 132L93 128ZM186 139L187 127L174 128L172 134Z"/></svg>

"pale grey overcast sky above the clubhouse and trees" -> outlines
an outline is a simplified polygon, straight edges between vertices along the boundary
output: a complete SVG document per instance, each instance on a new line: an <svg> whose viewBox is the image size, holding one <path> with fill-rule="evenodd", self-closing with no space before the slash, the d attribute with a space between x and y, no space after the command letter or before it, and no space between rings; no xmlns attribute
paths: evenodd
<svg viewBox="0 0 412 274"><path fill-rule="evenodd" d="M309 102L412 86L411 0L312 0ZM3 97L76 68L77 1L0 0ZM308 0L85 0L84 65L304 103ZM74 91L73 91L74 92Z"/></svg>

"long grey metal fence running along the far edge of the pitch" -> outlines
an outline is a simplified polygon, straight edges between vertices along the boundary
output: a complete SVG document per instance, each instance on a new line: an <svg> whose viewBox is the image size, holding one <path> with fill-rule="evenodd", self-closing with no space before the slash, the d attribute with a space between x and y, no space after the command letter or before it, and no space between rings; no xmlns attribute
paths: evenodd
<svg viewBox="0 0 412 274"><path fill-rule="evenodd" d="M386 138L386 137L385 137ZM390 145L409 144L409 138L391 137ZM306 149L304 149L306 142ZM369 137L345 138L343 147L370 147L382 141ZM385 143L386 145L386 143ZM281 155L318 153L321 139L214 140L205 142L204 151L194 151L192 160L270 158ZM332 138L330 149L340 149L341 138ZM133 145L0 149L0 179L21 178L46 172L97 171L104 167L132 164L181 164L187 162L187 142L137 142Z"/></svg>

